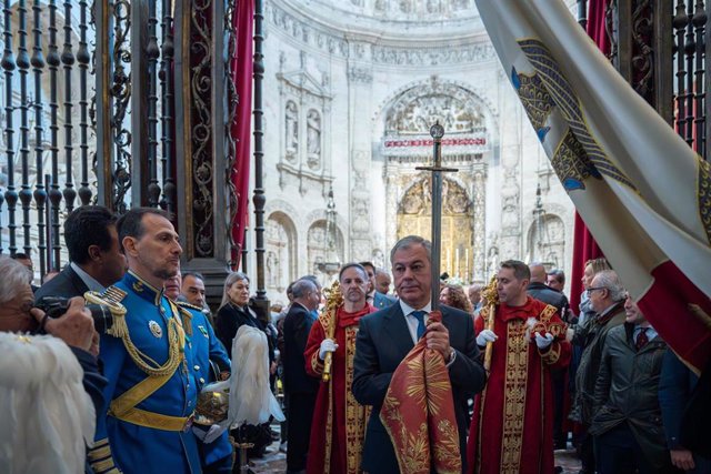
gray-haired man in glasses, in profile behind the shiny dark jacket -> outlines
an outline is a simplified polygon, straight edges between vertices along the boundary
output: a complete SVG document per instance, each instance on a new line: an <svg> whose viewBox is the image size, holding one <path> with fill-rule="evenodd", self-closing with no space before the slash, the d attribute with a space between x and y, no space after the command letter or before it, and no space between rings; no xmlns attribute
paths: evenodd
<svg viewBox="0 0 711 474"><path fill-rule="evenodd" d="M604 341L612 327L624 323L624 299L627 297L627 291L613 270L603 270L595 274L587 292L595 314L585 321L584 327L575 327L575 342L582 345L583 352L575 374L575 399L570 414L570 418L582 424L585 430L592 423L595 381L600 371ZM583 437L580 456L585 472L594 472L591 436Z"/></svg>

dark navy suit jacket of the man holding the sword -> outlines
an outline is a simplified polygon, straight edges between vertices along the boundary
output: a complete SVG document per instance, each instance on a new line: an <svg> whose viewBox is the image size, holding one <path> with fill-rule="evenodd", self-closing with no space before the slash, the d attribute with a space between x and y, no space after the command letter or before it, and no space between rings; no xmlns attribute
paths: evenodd
<svg viewBox="0 0 711 474"><path fill-rule="evenodd" d="M449 330L450 345L457 351L457 359L449 367L449 376L463 461L469 432L467 399L483 389L487 376L479 361L471 315L449 306L441 306L441 311L442 322ZM362 455L362 468L371 474L399 472L392 442L380 422L380 407L392 373L413 346L400 304L360 320L352 391L361 405L373 407Z"/></svg>

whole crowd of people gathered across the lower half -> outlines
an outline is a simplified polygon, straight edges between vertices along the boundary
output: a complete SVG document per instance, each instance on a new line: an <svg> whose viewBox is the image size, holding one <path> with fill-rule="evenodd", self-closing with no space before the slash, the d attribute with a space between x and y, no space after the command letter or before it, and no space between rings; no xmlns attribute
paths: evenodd
<svg viewBox="0 0 711 474"><path fill-rule="evenodd" d="M42 407L12 413L29 421L3 435L0 465L10 473L230 473L246 461L236 442L262 456L279 436L269 422L230 427L196 416L199 393L242 362L231 357L242 326L266 335L258 376L283 390L288 473L553 473L554 451L568 447L584 473L711 472L708 448L692 448L682 427L698 377L604 259L587 262L573 309L564 273L539 263L503 261L488 289L432 281L431 244L410 235L392 248L390 271L348 263L330 289L304 275L272 312L252 304L247 274L231 272L211 312L202 275L181 274L179 235L163 211L117 219L78 208L64 240L70 262L41 288L31 259L0 255L0 346L29 373L3 369L0 399L20 411L32 410L20 403L32 396ZM50 317L57 299L66 300ZM111 312L101 334L94 303ZM66 376L40 376L43 347ZM415 349L425 356L411 357ZM393 389L417 371L439 382ZM18 394L31 374L37 393ZM67 393L70 409L56 403ZM439 424L398 414L423 400ZM48 427L28 434L36 425ZM30 435L38 450L22 448Z"/></svg>

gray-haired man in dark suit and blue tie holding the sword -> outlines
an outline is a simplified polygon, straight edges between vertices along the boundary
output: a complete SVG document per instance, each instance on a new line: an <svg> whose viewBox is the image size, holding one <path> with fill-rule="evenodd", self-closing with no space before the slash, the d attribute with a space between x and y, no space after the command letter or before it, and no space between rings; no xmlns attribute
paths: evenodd
<svg viewBox="0 0 711 474"><path fill-rule="evenodd" d="M392 373L414 346L431 310L430 242L405 236L390 252L390 262L400 300L360 320L353 363L353 395L360 404L373 407L362 454L362 468L371 474L399 472L392 442L380 422L380 407ZM441 312L442 322L430 324L424 337L429 349L443 355L449 370L464 463L467 399L483 389L487 377L471 315L448 306L441 306Z"/></svg>

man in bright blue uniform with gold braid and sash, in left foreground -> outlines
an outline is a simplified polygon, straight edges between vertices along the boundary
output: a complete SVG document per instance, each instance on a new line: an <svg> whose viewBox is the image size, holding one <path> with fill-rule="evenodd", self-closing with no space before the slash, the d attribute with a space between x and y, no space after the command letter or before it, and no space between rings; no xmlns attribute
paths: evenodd
<svg viewBox="0 0 711 474"><path fill-rule="evenodd" d="M168 214L139 208L117 223L129 271L104 293L127 309L100 357L109 383L89 453L98 473L199 473L198 442L190 430L202 366L186 336L163 282L180 269L182 249Z"/></svg>

